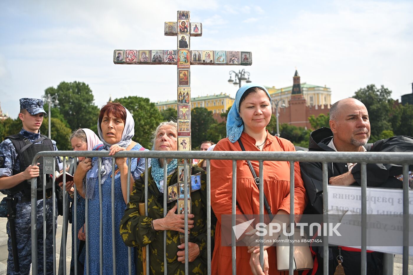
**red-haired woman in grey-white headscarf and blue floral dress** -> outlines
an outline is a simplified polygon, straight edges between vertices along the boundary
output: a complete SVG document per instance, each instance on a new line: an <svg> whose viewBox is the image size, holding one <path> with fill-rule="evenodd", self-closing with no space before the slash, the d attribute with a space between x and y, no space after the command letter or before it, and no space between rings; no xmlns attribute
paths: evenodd
<svg viewBox="0 0 413 275"><path fill-rule="evenodd" d="M96 150L107 150L109 155L119 151L146 150L139 143L132 141L135 133L135 123L131 113L116 102L109 102L100 110L97 132L103 146L95 147ZM133 182L140 178L145 169L145 159L131 159L131 173L128 174L128 161L126 158L115 158L115 175L112 175L112 157L102 158L102 166L98 171L98 158L85 159L85 163L91 166L86 174L86 183L83 186L81 179L74 177L79 194L88 200L88 239L89 245L89 274L99 274L102 266L103 274L113 274L112 259L116 258L116 273L128 274L128 248L123 243L119 234L119 224L126 208L127 180L131 178L131 190ZM99 173L102 176L102 218L103 218L103 262L99 261ZM113 213L115 220L115 255L112 252L112 201L111 187L112 176L114 179L114 204ZM132 249L132 259L135 259L135 249ZM132 274L135 274L135 262L132 260ZM86 273L86 266L85 266Z"/></svg>

